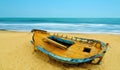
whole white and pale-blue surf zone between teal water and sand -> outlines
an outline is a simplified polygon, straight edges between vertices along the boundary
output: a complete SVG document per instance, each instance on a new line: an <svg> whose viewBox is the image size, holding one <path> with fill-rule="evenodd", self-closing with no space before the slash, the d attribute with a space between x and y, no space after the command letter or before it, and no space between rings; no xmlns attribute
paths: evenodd
<svg viewBox="0 0 120 70"><path fill-rule="evenodd" d="M0 29L30 31L32 29L43 29L54 32L73 33L120 33L120 25L116 24L90 24L90 23L0 23Z"/></svg>

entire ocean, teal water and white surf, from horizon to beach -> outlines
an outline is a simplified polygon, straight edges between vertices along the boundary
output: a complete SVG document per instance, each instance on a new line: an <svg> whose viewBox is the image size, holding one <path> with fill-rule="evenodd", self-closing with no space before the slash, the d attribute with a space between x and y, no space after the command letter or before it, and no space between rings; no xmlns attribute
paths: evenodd
<svg viewBox="0 0 120 70"><path fill-rule="evenodd" d="M0 30L120 34L120 18L0 18Z"/></svg>

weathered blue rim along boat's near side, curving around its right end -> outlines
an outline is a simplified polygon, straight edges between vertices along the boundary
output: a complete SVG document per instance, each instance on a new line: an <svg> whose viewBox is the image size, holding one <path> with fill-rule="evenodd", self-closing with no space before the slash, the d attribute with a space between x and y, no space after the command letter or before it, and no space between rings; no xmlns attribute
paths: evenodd
<svg viewBox="0 0 120 70"><path fill-rule="evenodd" d="M85 39L85 38L80 38L80 39L84 39L84 40L88 40L88 39ZM92 39L93 40L93 39ZM97 41L97 42L100 42L102 47L103 47L103 50L99 53L99 54L96 54L94 56L91 56L89 58L66 58L66 57L62 57L62 56L58 56L58 55L55 55L47 50L45 50L44 48L40 47L40 46L36 46L36 48L43 52L44 54L50 56L51 58L57 60L57 61L61 61L61 62L64 62L64 63L69 63L69 64L77 64L77 63L84 63L84 62L89 62L97 57L103 57L104 56L104 52L107 50L107 46L105 43L99 41L99 40L93 40L93 41Z"/></svg>

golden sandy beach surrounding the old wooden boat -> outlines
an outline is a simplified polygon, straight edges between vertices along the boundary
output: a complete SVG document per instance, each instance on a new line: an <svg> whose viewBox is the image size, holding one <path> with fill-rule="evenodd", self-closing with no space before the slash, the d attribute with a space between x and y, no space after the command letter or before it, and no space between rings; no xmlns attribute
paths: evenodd
<svg viewBox="0 0 120 70"><path fill-rule="evenodd" d="M0 70L120 70L120 35L79 34L109 43L100 65L67 65L33 52L32 33L0 31Z"/></svg>

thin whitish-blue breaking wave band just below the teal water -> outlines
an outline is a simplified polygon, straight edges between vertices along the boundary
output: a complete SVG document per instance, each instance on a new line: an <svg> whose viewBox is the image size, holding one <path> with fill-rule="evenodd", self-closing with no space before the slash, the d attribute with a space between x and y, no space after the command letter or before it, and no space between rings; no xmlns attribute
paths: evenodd
<svg viewBox="0 0 120 70"><path fill-rule="evenodd" d="M80 23L80 24L66 24L66 23L34 23L34 24L26 24L26 23L16 23L16 24L5 24L0 23L0 26L72 26L72 27L120 27L117 24L88 24L88 23Z"/></svg>

